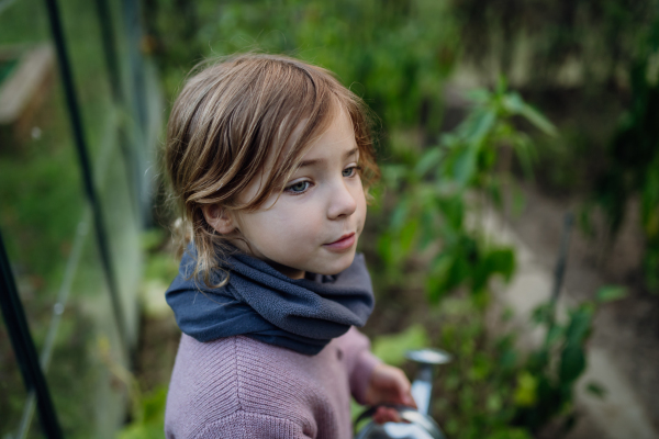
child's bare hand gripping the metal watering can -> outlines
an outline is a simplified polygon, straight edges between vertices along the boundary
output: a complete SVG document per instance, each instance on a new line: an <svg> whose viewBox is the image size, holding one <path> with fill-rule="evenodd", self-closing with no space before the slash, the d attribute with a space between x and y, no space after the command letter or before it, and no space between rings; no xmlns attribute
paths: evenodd
<svg viewBox="0 0 659 439"><path fill-rule="evenodd" d="M366 403L377 405L382 403L401 404L416 408L410 390L412 385L405 373L399 368L380 363L376 365L366 390ZM378 407L373 415L378 424L400 423L398 412L390 407Z"/></svg>

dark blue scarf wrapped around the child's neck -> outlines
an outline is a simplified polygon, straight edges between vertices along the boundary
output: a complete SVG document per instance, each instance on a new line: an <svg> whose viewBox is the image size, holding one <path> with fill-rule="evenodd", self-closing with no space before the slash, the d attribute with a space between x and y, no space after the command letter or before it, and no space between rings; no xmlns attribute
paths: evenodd
<svg viewBox="0 0 659 439"><path fill-rule="evenodd" d="M188 248L166 299L181 330L199 341L245 335L316 354L350 326L364 326L375 305L364 255L356 255L353 264L335 275L290 279L236 252L224 264L228 283L217 289L191 278L194 255ZM212 281L221 275L225 274L217 270Z"/></svg>

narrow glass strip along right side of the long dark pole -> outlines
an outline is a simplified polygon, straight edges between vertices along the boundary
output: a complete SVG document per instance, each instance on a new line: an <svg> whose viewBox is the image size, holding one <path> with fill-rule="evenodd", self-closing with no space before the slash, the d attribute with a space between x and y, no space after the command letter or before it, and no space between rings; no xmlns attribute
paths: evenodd
<svg viewBox="0 0 659 439"><path fill-rule="evenodd" d="M112 100L96 2L72 0L60 2L60 5L96 189L101 201L112 268L123 306L124 333L134 342L137 333L134 289L142 268L138 245L141 223L136 206L132 204L132 176L124 166L125 160L134 160L134 157L130 153L130 139L119 136L120 124L125 121L121 120ZM119 18L118 11L113 10L111 16L105 19Z"/></svg>

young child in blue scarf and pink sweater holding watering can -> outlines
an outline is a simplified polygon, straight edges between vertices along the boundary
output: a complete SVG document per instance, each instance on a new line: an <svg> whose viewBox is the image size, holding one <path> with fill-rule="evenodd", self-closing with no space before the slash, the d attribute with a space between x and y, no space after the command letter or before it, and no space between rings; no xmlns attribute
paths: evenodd
<svg viewBox="0 0 659 439"><path fill-rule="evenodd" d="M413 406L355 329L373 307L355 248L379 175L362 102L322 68L239 55L188 80L167 137L191 238L167 291L183 333L167 438L349 438L350 394Z"/></svg>

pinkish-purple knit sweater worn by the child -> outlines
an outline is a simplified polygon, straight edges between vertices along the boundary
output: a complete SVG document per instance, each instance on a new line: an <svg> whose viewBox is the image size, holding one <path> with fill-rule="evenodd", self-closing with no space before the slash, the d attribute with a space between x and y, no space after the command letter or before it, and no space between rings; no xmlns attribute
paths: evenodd
<svg viewBox="0 0 659 439"><path fill-rule="evenodd" d="M364 402L379 360L357 329L304 356L245 336L183 335L165 414L177 438L351 437L350 393Z"/></svg>

